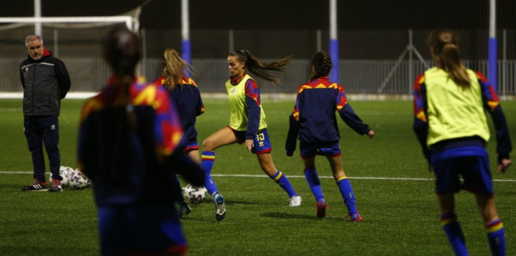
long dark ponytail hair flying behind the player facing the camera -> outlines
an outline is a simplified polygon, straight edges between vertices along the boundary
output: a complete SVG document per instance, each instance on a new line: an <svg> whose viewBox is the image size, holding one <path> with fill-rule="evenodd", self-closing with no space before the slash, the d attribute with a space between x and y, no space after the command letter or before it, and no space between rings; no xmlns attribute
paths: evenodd
<svg viewBox="0 0 516 256"><path fill-rule="evenodd" d="M286 73L284 66L289 64L291 60L291 56L289 56L267 64L260 62L260 59L252 55L249 50L236 50L230 52L229 55L236 56L240 62L244 62L246 64L244 67L246 67L249 72L276 85L280 83L279 78L270 73L270 71Z"/></svg>

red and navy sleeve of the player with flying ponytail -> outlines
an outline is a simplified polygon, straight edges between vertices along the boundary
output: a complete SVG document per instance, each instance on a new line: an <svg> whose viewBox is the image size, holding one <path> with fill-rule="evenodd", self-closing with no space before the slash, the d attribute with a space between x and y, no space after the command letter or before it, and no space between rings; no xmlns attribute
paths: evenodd
<svg viewBox="0 0 516 256"><path fill-rule="evenodd" d="M255 80L246 81L246 104L248 109L246 139L253 139L260 126L260 90Z"/></svg>

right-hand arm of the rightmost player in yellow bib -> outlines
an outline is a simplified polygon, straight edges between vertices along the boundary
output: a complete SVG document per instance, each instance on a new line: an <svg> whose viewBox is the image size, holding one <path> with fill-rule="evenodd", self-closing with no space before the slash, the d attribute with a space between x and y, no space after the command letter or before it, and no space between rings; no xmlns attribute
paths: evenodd
<svg viewBox="0 0 516 256"><path fill-rule="evenodd" d="M484 102L484 108L491 114L493 119L494 128L496 129L496 152L498 153L498 164L508 162L510 164L509 153L512 150L512 144L510 143L509 129L505 114L502 111L498 95L494 90L494 87L487 83L487 79L482 73L477 73L478 82L482 90L482 101ZM505 160L504 160L505 159ZM499 171L505 171L508 167L504 165L504 169Z"/></svg>

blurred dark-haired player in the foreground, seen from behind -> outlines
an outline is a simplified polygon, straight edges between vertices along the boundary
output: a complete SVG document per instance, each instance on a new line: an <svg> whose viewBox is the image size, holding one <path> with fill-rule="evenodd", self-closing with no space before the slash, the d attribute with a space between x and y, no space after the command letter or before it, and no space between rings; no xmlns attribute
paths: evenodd
<svg viewBox="0 0 516 256"><path fill-rule="evenodd" d="M194 185L202 185L204 172L178 152L183 129L166 90L135 77L138 37L112 29L104 56L113 76L84 104L77 157L93 180L101 253L187 255L171 170Z"/></svg>

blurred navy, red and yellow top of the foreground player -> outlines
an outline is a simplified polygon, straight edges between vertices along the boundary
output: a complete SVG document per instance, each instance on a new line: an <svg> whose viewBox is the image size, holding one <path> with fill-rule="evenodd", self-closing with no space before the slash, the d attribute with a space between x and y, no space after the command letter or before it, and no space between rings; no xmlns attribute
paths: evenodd
<svg viewBox="0 0 516 256"><path fill-rule="evenodd" d="M110 78L84 104L79 126L79 168L93 180L97 204L171 203L171 169L192 171L188 178L201 185L199 166L177 153L182 138L176 107L163 87L137 79L127 87Z"/></svg>

